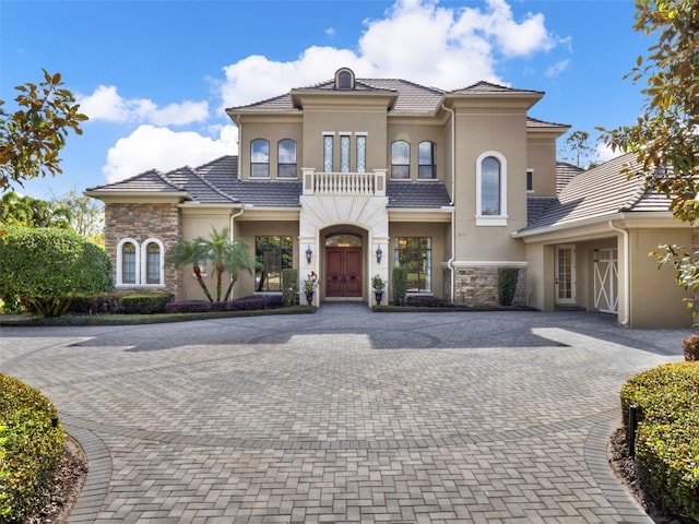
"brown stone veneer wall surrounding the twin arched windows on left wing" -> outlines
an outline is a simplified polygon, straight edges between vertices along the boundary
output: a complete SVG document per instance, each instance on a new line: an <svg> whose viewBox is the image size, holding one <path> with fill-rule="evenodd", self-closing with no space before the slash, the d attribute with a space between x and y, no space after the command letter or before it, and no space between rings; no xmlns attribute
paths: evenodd
<svg viewBox="0 0 699 524"><path fill-rule="evenodd" d="M181 237L180 214L176 203L122 204L105 205L105 249L111 263L117 266L117 246L123 238L133 238L141 246L149 238L157 238L163 242L165 253ZM177 296L180 289L180 271L165 266L165 290ZM119 289L147 289L147 286ZM154 289L162 290L162 287Z"/></svg>

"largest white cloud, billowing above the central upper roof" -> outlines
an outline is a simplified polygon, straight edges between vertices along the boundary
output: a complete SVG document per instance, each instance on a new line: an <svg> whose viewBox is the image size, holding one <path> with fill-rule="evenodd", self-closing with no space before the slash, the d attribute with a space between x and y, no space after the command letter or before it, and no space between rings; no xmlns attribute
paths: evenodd
<svg viewBox="0 0 699 524"><path fill-rule="evenodd" d="M297 60L249 56L224 68L224 107L244 106L329 80L340 67L358 76L402 78L442 88L478 80L502 82L500 60L550 50L559 41L542 14L517 21L505 0L484 8L441 8L436 0L396 0L379 20L365 21L357 50L310 47Z"/></svg>

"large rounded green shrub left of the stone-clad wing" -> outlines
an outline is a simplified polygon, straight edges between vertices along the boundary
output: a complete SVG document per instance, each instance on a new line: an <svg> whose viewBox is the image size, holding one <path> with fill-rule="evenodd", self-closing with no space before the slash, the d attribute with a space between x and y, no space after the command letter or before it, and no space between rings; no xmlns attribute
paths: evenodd
<svg viewBox="0 0 699 524"><path fill-rule="evenodd" d="M46 317L63 314L71 297L108 291L106 253L64 229L8 227L0 241L0 298Z"/></svg>

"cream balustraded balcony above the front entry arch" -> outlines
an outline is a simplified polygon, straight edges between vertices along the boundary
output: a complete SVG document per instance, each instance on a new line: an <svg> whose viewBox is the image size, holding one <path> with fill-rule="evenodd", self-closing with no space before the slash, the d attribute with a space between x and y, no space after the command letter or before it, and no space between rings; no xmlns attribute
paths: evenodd
<svg viewBox="0 0 699 524"><path fill-rule="evenodd" d="M386 196L386 169L374 172L316 172L301 169L304 194Z"/></svg>

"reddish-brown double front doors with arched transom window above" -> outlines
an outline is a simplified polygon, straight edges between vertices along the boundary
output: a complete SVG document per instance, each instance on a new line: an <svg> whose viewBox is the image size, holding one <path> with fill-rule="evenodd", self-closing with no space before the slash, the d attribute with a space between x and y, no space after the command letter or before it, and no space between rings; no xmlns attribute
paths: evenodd
<svg viewBox="0 0 699 524"><path fill-rule="evenodd" d="M353 234L325 237L325 298L360 298L363 238Z"/></svg>

